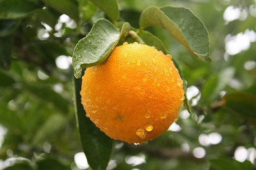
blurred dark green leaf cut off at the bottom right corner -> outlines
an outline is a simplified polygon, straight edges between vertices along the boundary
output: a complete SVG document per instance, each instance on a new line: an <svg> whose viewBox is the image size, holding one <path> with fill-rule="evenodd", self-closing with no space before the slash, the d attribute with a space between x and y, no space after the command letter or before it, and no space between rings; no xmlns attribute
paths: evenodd
<svg viewBox="0 0 256 170"><path fill-rule="evenodd" d="M220 158L210 160L210 167L213 170L251 170L253 164L249 161L239 162L229 158Z"/></svg>

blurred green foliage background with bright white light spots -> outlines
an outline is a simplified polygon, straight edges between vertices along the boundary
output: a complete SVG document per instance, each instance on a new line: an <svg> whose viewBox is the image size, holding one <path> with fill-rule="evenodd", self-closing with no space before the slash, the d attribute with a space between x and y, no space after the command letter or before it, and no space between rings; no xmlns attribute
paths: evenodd
<svg viewBox="0 0 256 170"><path fill-rule="evenodd" d="M256 169L256 2L119 0L120 18L139 28L148 6L190 8L205 23L212 63L161 28L180 64L193 114L142 145L115 141L107 169ZM0 169L90 169L73 106L71 61L79 39L106 17L86 0L0 0ZM94 148L92 148L93 150Z"/></svg>

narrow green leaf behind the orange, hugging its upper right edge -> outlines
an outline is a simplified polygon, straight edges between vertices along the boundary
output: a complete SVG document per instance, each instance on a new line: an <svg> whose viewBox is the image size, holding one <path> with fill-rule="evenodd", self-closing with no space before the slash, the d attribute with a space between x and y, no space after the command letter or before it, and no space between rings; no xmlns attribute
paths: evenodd
<svg viewBox="0 0 256 170"><path fill-rule="evenodd" d="M147 31L143 31L141 30L138 35L140 36L140 38L143 39L143 41L147 44L147 45L151 45L151 46L155 46L157 48L157 50L160 50L162 51L164 54L169 54L167 52L167 50L165 49L164 45L163 45L163 42L158 38L156 37L155 35L151 34L150 32L147 32ZM186 85L186 81L185 81L185 78L183 76L183 73L182 73L182 70L179 66L179 64L177 63L177 61L175 60L175 58L173 58L173 62L176 66L176 68L179 70L179 74L181 76L181 79L183 80L183 89L185 91L185 100L184 100L184 103L185 103L185 106L186 106L186 109L188 110L189 113L191 113L191 109L190 109L190 105L189 105L189 102L187 100L187 95L186 95L186 91L187 91L187 85Z"/></svg>

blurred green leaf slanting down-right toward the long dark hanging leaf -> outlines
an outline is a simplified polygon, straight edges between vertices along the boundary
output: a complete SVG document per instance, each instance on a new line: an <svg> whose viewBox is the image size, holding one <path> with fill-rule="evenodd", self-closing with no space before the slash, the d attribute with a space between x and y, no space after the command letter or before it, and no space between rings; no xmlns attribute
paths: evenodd
<svg viewBox="0 0 256 170"><path fill-rule="evenodd" d="M24 83L24 89L36 95L41 101L51 103L62 113L67 114L69 109L69 101L64 99L60 94L53 91L52 88L40 85L30 85Z"/></svg>

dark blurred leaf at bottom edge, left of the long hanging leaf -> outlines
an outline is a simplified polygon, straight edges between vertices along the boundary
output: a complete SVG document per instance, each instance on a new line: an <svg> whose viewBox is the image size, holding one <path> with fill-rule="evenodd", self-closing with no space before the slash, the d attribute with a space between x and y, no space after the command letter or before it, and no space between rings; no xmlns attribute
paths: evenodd
<svg viewBox="0 0 256 170"><path fill-rule="evenodd" d="M45 158L36 162L38 170L54 169L54 170L69 170L70 167L63 165L60 161L54 158Z"/></svg>

